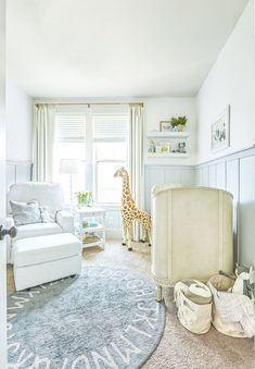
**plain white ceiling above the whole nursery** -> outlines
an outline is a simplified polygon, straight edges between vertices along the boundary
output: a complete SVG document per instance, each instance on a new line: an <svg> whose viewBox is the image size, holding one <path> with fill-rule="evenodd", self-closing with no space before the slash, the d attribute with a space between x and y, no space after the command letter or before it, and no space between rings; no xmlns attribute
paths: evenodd
<svg viewBox="0 0 255 369"><path fill-rule="evenodd" d="M8 76L33 97L193 96L247 0L8 0Z"/></svg>

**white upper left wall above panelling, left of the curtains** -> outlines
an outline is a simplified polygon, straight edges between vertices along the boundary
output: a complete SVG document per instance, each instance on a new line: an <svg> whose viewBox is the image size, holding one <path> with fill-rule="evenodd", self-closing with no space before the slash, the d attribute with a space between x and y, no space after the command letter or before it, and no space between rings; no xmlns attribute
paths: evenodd
<svg viewBox="0 0 255 369"><path fill-rule="evenodd" d="M31 160L33 104L22 89L7 82L7 160Z"/></svg>

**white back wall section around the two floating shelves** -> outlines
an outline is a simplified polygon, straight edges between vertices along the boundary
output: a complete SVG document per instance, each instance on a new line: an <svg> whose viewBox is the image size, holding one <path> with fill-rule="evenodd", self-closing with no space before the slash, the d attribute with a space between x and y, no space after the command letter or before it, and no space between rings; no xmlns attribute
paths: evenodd
<svg viewBox="0 0 255 369"><path fill-rule="evenodd" d="M164 165L188 165L195 161L195 145L196 145L196 106L195 98L192 97L164 97L164 98L146 98L143 99L145 111L145 127L144 127L144 152L148 148L146 134L150 131L160 130L160 122L170 120L171 116L187 115L187 131L190 136L187 142L187 151L190 158L173 159L173 158L150 158L145 160L145 164L164 164ZM162 140L162 139L160 139ZM180 139L170 140L174 147ZM183 140L183 139L181 139Z"/></svg>

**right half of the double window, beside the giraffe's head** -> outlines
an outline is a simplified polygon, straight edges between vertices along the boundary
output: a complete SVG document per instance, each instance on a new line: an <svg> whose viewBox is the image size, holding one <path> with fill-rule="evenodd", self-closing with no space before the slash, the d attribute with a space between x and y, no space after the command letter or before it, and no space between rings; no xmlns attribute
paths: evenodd
<svg viewBox="0 0 255 369"><path fill-rule="evenodd" d="M97 202L120 202L122 182L114 173L127 164L128 121L127 106L102 106L92 110Z"/></svg>

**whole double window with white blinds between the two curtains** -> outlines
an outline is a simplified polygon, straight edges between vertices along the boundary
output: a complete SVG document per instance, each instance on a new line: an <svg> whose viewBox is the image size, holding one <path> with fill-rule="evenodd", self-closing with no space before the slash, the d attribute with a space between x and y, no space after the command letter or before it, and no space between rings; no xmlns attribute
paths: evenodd
<svg viewBox="0 0 255 369"><path fill-rule="evenodd" d="M63 106L55 115L55 181L66 201L72 193L92 190L95 202L120 204L122 181L114 177L127 165L128 106ZM74 159L78 173L61 173L61 162Z"/></svg>

